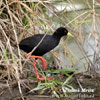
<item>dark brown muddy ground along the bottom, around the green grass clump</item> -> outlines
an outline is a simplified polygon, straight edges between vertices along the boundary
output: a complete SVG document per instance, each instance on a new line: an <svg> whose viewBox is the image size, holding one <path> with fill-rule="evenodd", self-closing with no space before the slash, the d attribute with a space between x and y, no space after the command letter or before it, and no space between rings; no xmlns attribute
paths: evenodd
<svg viewBox="0 0 100 100"><path fill-rule="evenodd" d="M24 80L25 82L26 80ZM27 83L27 81L26 81ZM34 84L30 82L31 88L34 88L37 84L35 82ZM88 74L77 74L75 75L70 83L75 87L76 89L81 87L82 88L89 88L94 89L94 92L88 93L84 92L80 95L79 92L77 93L70 93L66 95L64 98L60 98L60 100L100 100L100 77L94 77L92 78ZM29 83L28 83L29 84ZM80 86L79 86L80 85ZM19 93L18 85L16 82L12 82L12 85L10 88L8 86L5 86L5 84L0 84L2 88L0 89L0 100L22 100L22 97ZM4 88L5 87L5 88ZM52 93L45 92L44 94L40 95L39 91L28 93L29 89L26 86L26 88L22 87L22 94L25 100L58 100L58 98L52 97ZM48 94L47 94L48 93ZM76 95L76 97L74 97ZM78 95L78 96L77 96ZM79 96L80 95L80 96ZM90 96L90 97L87 97Z"/></svg>

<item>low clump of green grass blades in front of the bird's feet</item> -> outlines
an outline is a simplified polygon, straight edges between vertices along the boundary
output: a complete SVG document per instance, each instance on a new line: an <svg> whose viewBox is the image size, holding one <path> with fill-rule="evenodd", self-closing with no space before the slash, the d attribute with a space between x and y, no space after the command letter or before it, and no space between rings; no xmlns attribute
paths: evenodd
<svg viewBox="0 0 100 100"><path fill-rule="evenodd" d="M64 68L64 69L57 69L57 70L46 70L42 71L45 72L45 74L53 74L50 77L53 77L53 79L48 80L48 77L46 77L46 80L38 81L37 87L30 90L30 92L33 91L40 91L40 94L44 94L46 90L49 89L51 91L51 94L53 94L55 97L60 98L60 95L64 93L63 88L69 88L72 89L73 87L69 84L70 80L73 77L73 74L70 75L68 72L76 72L77 70L74 70L72 68ZM55 75L56 74L56 75ZM60 75L60 76L58 76ZM64 75L64 76L63 76ZM62 77L62 78L59 78ZM36 80L35 78L31 78L31 80Z"/></svg>

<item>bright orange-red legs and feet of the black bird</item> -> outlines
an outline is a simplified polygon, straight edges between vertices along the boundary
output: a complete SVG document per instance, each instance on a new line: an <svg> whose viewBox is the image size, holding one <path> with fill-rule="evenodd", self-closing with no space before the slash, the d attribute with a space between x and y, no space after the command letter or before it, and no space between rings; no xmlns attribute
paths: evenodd
<svg viewBox="0 0 100 100"><path fill-rule="evenodd" d="M26 55L26 57L28 57L30 55L30 53L28 53L27 55ZM42 62L43 62L43 64L44 64L44 69L47 69L47 62L45 61L45 59L43 59L42 57L40 57L40 56L30 56L30 58L38 58L39 60L41 60ZM44 81L44 80L46 80L46 78L40 78L39 77L39 74L38 74L38 72L37 72L37 69L36 69L36 60L34 60L34 63L33 63L33 68L34 68L34 71L35 71L35 74L36 74L36 77L37 77L37 79L38 80L41 80L41 81ZM52 79L52 78L48 78L48 79Z"/></svg>

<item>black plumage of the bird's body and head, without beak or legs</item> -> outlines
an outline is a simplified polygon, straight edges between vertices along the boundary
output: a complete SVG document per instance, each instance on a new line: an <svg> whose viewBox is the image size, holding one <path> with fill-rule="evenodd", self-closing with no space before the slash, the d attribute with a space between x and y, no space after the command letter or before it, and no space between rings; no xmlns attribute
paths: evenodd
<svg viewBox="0 0 100 100"><path fill-rule="evenodd" d="M42 56L50 50L54 49L58 44L62 36L67 35L68 31L64 27L58 28L53 35L46 35L39 46L32 52L32 55ZM19 47L23 51L29 53L35 46L41 41L45 34L36 34L31 37L23 39Z"/></svg>

